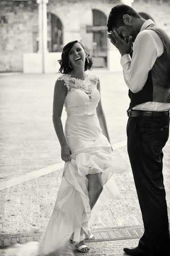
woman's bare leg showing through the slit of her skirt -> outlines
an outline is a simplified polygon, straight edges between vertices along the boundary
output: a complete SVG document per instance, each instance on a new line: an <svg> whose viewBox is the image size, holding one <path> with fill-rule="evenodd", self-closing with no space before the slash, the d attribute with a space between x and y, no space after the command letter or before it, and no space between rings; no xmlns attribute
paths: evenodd
<svg viewBox="0 0 170 256"><path fill-rule="evenodd" d="M88 174L86 177L88 178L88 196L92 210L103 190L102 175L101 173L95 173Z"/></svg>

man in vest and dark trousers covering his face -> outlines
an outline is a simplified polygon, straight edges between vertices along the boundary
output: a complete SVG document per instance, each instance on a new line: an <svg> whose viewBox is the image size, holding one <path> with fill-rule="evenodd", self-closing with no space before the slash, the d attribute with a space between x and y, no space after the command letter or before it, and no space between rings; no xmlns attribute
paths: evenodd
<svg viewBox="0 0 170 256"><path fill-rule="evenodd" d="M127 150L144 222L139 245L124 251L134 256L167 256L170 240L162 148L170 122L170 37L127 5L111 10L108 32L122 55L123 75L129 87Z"/></svg>

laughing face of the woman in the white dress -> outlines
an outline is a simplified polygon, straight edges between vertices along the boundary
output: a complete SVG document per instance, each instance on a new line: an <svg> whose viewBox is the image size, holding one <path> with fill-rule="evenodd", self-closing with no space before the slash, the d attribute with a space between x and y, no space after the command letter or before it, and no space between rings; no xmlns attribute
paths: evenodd
<svg viewBox="0 0 170 256"><path fill-rule="evenodd" d="M85 65L86 54L81 44L75 43L68 53L68 61L73 68Z"/></svg>

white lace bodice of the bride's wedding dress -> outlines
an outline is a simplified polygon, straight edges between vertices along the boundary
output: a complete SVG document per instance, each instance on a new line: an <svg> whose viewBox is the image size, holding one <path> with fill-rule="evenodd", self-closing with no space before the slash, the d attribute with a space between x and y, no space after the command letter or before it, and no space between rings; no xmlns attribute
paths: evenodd
<svg viewBox="0 0 170 256"><path fill-rule="evenodd" d="M58 80L64 80L64 85L68 89L64 106L69 116L96 114L100 100L100 93L97 90L98 77L88 74L81 80L64 74Z"/></svg>

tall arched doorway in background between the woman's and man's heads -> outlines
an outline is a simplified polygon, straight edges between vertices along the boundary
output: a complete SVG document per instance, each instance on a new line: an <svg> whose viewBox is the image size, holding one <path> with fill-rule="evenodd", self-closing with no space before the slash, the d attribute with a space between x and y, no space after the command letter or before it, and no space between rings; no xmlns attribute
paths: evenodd
<svg viewBox="0 0 170 256"><path fill-rule="evenodd" d="M107 66L107 17L96 9L93 12L93 56L95 67Z"/></svg>

